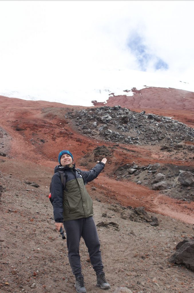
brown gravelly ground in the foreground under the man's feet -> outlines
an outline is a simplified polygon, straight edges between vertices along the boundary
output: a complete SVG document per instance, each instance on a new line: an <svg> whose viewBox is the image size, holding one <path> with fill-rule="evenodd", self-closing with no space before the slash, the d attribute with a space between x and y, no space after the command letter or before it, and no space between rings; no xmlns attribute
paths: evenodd
<svg viewBox="0 0 194 293"><path fill-rule="evenodd" d="M1 166L3 162L1 161ZM35 170L37 172L37 169ZM33 165L26 171L30 178ZM40 182L35 188L23 180L1 173L1 278L0 292L74 292L74 276L67 257L66 240L55 231L52 206L47 198L49 188ZM51 177L49 173L43 174ZM91 184L87 187L91 193ZM93 196L92 196L93 197ZM96 196L95 196L96 198ZM171 265L169 256L176 243L192 237L194 226L173 218L156 215L159 226L121 218L119 205L98 202L93 197L95 222L115 222L98 227L106 277L114 292L127 287L137 292L194 292L193 272L182 265ZM106 217L102 214L106 213ZM81 239L81 262L87 292L101 292Z"/></svg>

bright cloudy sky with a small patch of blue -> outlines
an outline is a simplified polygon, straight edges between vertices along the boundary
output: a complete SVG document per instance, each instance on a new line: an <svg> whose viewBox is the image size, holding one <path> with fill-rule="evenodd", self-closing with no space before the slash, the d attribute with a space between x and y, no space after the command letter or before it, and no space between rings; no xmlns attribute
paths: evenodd
<svg viewBox="0 0 194 293"><path fill-rule="evenodd" d="M66 88L101 70L193 82L193 1L0 1L0 91Z"/></svg>

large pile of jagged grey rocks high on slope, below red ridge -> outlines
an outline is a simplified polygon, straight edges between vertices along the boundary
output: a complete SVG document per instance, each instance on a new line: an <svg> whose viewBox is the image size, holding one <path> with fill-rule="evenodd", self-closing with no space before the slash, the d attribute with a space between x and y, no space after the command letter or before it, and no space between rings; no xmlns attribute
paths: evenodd
<svg viewBox="0 0 194 293"><path fill-rule="evenodd" d="M137 113L120 105L72 110L65 117L72 119L80 132L91 137L100 136L107 141L126 144L162 142L161 148L167 147L168 151L184 140L193 141L194 137L193 128L171 117Z"/></svg>

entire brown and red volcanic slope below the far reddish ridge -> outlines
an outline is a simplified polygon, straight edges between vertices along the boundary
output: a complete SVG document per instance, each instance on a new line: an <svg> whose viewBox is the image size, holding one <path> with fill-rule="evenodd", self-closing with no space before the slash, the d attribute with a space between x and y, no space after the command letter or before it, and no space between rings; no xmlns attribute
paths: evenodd
<svg viewBox="0 0 194 293"><path fill-rule="evenodd" d="M85 170L104 156L108 159L105 170L87 189L94 201L95 222L101 223L97 229L106 275L111 283L109 291L123 286L133 293L193 293L193 272L183 265L169 263L176 244L194 236L193 183L185 185L178 181L183 174L179 170L193 173L194 169L193 130L179 123L184 122L184 115L188 117L187 110L183 109L178 122L171 118L168 118L170 122L163 122L162 119L172 116L169 112L166 115L167 110L149 111L160 121L149 119L147 110L142 115L132 112L134 109L122 110L127 111L129 121L122 123L122 117L118 117L118 124L114 124L98 120L102 115L96 115L95 111L103 114L107 109L104 105L95 110L0 98L0 291L74 292L66 240L54 229L52 206L47 198L58 152L67 148L72 151L76 166ZM80 122L75 113L85 113L83 110L87 115L95 114L95 119L88 119L86 115ZM120 110L111 110L111 113L116 115ZM138 127L133 129L130 119L134 119L135 126L141 121L139 136ZM98 124L94 128L91 127L93 122ZM84 124L88 127L82 129ZM105 139L99 131L105 124L120 136L133 131L134 134L128 135L131 141ZM127 127L127 131L117 126ZM179 127L180 135L178 132L175 135ZM95 135L83 133L88 129ZM142 129L149 133L148 143L144 141ZM164 139L157 139L163 132ZM158 140L156 144L152 140L154 136ZM158 173L166 176L160 178L171 188L152 189L157 184ZM148 215L138 214L135 207L142 206ZM158 226L151 225L155 217ZM87 290L98 292L83 241L80 252Z"/></svg>

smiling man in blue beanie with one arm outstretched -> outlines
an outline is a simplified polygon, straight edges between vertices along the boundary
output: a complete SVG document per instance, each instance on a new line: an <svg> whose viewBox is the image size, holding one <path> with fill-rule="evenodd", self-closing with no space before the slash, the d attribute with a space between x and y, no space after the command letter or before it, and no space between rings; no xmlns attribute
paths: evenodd
<svg viewBox="0 0 194 293"><path fill-rule="evenodd" d="M51 180L51 197L56 229L63 228L67 235L69 263L75 275L75 288L78 293L85 293L84 276L81 271L79 244L81 237L88 248L93 269L96 272L97 286L109 289L101 259L100 241L93 219L93 203L85 185L95 179L103 170L106 158L98 161L90 171L81 171L73 163L73 155L68 150L62 150L58 156L59 165ZM60 171L66 177L63 186Z"/></svg>

